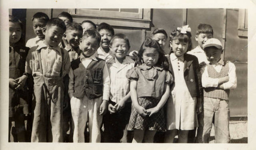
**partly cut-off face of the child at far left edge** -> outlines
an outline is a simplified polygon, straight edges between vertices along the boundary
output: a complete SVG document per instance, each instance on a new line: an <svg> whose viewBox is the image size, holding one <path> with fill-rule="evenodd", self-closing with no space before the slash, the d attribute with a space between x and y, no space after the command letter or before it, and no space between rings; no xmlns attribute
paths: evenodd
<svg viewBox="0 0 256 150"><path fill-rule="evenodd" d="M17 43L22 37L22 28L20 27L19 23L10 22L9 21L9 44L13 46Z"/></svg>

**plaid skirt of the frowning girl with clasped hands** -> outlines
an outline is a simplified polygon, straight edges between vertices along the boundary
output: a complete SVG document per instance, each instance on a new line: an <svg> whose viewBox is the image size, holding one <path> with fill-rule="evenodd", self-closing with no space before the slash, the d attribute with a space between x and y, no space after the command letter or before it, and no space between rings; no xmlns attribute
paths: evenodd
<svg viewBox="0 0 256 150"><path fill-rule="evenodd" d="M159 101L159 99L153 97L138 97L139 105L145 109L156 107ZM161 108L157 113L153 114L151 117L143 117L136 111L136 109L132 105L132 112L127 130L133 131L134 129L155 130L165 132L166 127L164 121L163 108Z"/></svg>

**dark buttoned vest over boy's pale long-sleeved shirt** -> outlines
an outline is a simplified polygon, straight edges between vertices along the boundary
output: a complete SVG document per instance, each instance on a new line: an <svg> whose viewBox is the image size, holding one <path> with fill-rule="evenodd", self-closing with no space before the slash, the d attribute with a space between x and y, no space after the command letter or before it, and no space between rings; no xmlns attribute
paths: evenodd
<svg viewBox="0 0 256 150"><path fill-rule="evenodd" d="M80 58L71 62L74 72L74 93L73 96L82 98L84 94L89 99L101 97L103 95L103 68L105 61L97 58L88 67L84 67Z"/></svg>

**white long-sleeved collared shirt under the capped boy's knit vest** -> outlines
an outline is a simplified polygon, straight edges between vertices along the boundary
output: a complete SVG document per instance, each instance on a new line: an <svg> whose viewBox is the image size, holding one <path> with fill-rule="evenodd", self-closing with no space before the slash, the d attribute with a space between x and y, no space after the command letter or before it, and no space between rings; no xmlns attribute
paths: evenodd
<svg viewBox="0 0 256 150"><path fill-rule="evenodd" d="M210 64L212 65L217 72L220 72L222 69L222 66L224 65L224 61L221 59L216 64ZM229 65L229 71L228 71L228 77L229 81L226 83L223 83L224 90L226 89L234 89L237 87L237 75L236 75L236 66L234 66L233 63L228 62ZM204 67L202 71L202 86L203 87L218 87L219 79L217 78L210 78L207 71L207 66Z"/></svg>

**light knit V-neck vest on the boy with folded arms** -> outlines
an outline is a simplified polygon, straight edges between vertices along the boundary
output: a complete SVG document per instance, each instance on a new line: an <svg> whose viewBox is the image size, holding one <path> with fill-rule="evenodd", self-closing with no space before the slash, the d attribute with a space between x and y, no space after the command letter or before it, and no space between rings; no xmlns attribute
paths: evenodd
<svg viewBox="0 0 256 150"><path fill-rule="evenodd" d="M220 72L217 72L212 65L207 65L208 76L210 78L222 78L228 76L229 65L227 62L224 62L224 66ZM228 100L230 90L223 90L215 87L204 88L204 97L211 98L220 98L224 100Z"/></svg>

